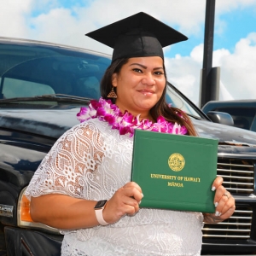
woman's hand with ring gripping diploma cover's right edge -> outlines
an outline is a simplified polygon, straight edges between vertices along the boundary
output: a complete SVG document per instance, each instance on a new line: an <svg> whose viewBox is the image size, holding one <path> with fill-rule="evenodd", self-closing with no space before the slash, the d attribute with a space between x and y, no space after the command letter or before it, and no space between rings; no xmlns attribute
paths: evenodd
<svg viewBox="0 0 256 256"><path fill-rule="evenodd" d="M223 221L235 212L235 199L222 185L223 178L216 177L212 183L212 190L216 190L214 196L215 213L204 213L205 223L218 223Z"/></svg>

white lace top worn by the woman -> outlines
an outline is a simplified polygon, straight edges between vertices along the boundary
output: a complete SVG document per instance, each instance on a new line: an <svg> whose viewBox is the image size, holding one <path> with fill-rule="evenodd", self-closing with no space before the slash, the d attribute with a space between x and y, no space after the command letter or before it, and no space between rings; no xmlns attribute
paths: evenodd
<svg viewBox="0 0 256 256"><path fill-rule="evenodd" d="M133 138L90 119L61 136L26 189L99 201L131 181ZM200 255L201 212L140 209L115 224L62 230L61 255Z"/></svg>

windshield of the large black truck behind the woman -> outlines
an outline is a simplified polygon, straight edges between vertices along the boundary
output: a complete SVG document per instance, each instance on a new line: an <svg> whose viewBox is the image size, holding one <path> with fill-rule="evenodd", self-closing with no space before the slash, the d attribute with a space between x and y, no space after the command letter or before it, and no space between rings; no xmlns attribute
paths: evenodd
<svg viewBox="0 0 256 256"><path fill-rule="evenodd" d="M108 55L83 49L0 43L0 102L1 99L7 103L8 99L23 98L20 104L31 105L33 99L29 97L63 98L63 95L98 99L100 81L110 62ZM40 101L42 105L44 99L47 101L49 97L35 97L34 102ZM201 117L201 111L171 84L166 91L166 101L195 118ZM17 99L9 102L17 102ZM54 98L50 105L54 105Z"/></svg>

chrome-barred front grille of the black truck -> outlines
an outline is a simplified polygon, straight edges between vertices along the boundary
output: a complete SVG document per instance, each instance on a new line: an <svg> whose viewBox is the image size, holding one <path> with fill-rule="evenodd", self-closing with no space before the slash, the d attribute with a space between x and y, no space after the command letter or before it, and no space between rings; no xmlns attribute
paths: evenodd
<svg viewBox="0 0 256 256"><path fill-rule="evenodd" d="M217 175L224 178L224 187L232 195L250 195L254 189L254 165L252 160L218 158ZM205 224L202 232L205 239L222 240L250 238L253 208L236 205L234 214L218 224Z"/></svg>

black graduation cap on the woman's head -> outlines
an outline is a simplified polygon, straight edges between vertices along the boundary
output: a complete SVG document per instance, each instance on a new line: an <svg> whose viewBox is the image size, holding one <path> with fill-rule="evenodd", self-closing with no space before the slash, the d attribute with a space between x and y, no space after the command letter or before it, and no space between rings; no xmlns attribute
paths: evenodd
<svg viewBox="0 0 256 256"><path fill-rule="evenodd" d="M155 55L164 59L163 47L188 39L171 26L143 12L103 26L86 36L113 48L112 61Z"/></svg>

